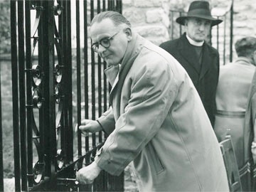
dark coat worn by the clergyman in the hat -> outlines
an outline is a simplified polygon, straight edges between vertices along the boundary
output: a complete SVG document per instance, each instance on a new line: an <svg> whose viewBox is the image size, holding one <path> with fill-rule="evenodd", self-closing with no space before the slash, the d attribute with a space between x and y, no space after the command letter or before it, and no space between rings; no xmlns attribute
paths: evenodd
<svg viewBox="0 0 256 192"><path fill-rule="evenodd" d="M186 69L213 125L216 110L215 95L220 68L218 50L209 46L206 42L203 43L202 62L200 63L195 48L186 38L186 33L183 33L181 38L161 43L160 47L173 55Z"/></svg>

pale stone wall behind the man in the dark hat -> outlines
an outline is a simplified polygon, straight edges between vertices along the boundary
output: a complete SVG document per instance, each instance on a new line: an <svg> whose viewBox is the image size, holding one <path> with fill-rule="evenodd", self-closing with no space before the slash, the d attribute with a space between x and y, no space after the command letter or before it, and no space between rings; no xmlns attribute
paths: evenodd
<svg viewBox="0 0 256 192"><path fill-rule="evenodd" d="M220 63L227 63L230 57L230 5L232 0L208 0L212 14L223 19L223 23L212 28L212 45L220 52ZM179 26L175 22L178 14L171 11L188 11L192 0L123 0L123 14L135 31L156 45L179 36ZM236 58L234 43L244 36L256 34L256 1L233 1L233 59ZM172 18L173 16L173 18ZM174 23L171 22L174 20ZM224 22L225 21L225 22ZM183 32L183 28L181 28ZM174 33L174 34L172 34ZM217 40L218 38L218 40ZM218 43L217 43L218 42Z"/></svg>

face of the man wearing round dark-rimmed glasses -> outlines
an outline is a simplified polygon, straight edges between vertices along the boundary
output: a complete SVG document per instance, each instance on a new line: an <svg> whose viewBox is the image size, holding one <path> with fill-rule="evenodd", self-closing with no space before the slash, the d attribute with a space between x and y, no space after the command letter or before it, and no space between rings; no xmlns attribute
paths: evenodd
<svg viewBox="0 0 256 192"><path fill-rule="evenodd" d="M108 65L117 65L124 58L127 45L131 39L131 33L127 34L124 29L114 26L110 18L105 18L100 23L94 23L91 28L92 44L95 44L97 52ZM109 44L107 44L109 43ZM108 47L105 45L109 45Z"/></svg>

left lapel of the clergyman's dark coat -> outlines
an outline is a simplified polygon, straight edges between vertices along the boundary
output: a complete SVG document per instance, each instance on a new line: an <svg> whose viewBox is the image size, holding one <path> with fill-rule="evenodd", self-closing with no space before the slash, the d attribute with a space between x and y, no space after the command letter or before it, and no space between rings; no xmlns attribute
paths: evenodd
<svg viewBox="0 0 256 192"><path fill-rule="evenodd" d="M184 58L192 68L196 70L199 74L201 70L201 65L198 63L198 58L196 56L196 50L193 49L186 38L186 33L181 36L181 41L178 44L178 50L182 58Z"/></svg>

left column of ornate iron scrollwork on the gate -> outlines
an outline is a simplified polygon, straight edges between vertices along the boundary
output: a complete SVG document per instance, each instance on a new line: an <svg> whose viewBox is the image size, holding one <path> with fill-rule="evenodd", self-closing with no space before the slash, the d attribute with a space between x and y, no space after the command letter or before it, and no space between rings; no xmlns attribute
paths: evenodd
<svg viewBox="0 0 256 192"><path fill-rule="evenodd" d="M42 181L45 172L45 155L42 146L42 135L40 130L40 117L42 114L41 107L43 105L43 67L42 63L36 59L35 51L38 52L38 41L41 38L38 36L38 26L43 14L43 6L40 1L31 1L30 9L36 11L36 18L33 23L33 30L31 32L32 48L31 55L27 58L27 112L31 118L28 118L28 186L32 187ZM26 10L28 11L28 10ZM27 21L28 22L28 21ZM29 73L29 74L28 74ZM29 91L31 90L31 92ZM33 132L31 132L32 130ZM32 138L31 138L32 137ZM32 140L31 140L32 139ZM33 141L33 145L32 142ZM33 150L36 148L36 151ZM30 163L30 164L29 164ZM31 165L32 163L32 165ZM32 166L32 167L31 167ZM32 169L32 170L31 170Z"/></svg>

